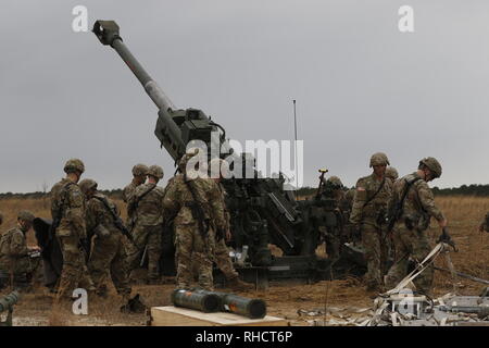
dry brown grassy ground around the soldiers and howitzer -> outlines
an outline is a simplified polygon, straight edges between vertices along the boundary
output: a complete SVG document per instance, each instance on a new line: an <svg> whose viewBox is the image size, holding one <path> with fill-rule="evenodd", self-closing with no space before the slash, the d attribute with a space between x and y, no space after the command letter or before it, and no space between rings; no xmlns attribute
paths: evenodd
<svg viewBox="0 0 489 348"><path fill-rule="evenodd" d="M477 226L489 211L489 198L442 197L437 198L437 202L449 219L450 233L459 247L459 252L450 253L455 270L487 279L489 234L479 233ZM1 226L2 232L14 223L15 211L24 208L30 209L37 216L48 216L42 200L0 200L0 211L7 216ZM428 234L435 241L439 231L431 227ZM29 240L33 240L32 237ZM318 252L322 252L321 248ZM436 264L447 268L442 256ZM479 295L485 287L463 278L456 282L461 295ZM148 307L159 307L171 304L173 289L173 284L135 285L133 294L140 294ZM452 290L451 275L436 271L434 295L437 297ZM1 295L7 293L2 291ZM354 277L315 284L271 283L267 290L236 294L265 300L267 314L285 318L290 325L312 325L314 320L355 318L373 304L373 294L365 293L362 279ZM53 295L42 287L35 288L33 294L22 295L14 309L14 325L147 325L148 321L146 313L121 313L118 309L122 303L115 294L106 300L89 299L88 315L74 315L70 303L53 302Z"/></svg>

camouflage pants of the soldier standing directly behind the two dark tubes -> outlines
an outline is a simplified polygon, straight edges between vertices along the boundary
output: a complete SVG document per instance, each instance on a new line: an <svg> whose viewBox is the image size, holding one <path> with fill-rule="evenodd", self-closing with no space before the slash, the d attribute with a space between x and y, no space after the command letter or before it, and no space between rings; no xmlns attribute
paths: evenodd
<svg viewBox="0 0 489 348"><path fill-rule="evenodd" d="M193 281L192 261L197 268L199 286L214 289L212 262L214 260L214 232L210 229L202 238L197 224L175 225L175 263L177 287L189 288Z"/></svg>

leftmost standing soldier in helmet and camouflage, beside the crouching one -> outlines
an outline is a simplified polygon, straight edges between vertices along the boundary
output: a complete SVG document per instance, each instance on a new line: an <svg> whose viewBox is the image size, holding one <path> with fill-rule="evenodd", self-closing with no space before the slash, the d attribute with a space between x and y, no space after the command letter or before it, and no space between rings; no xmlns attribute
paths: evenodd
<svg viewBox="0 0 489 348"><path fill-rule="evenodd" d="M85 165L78 159L71 159L66 161L64 172L66 177L54 184L50 195L53 227L63 253L58 297L71 298L75 288L92 291L95 286L85 263L85 199L77 185Z"/></svg>

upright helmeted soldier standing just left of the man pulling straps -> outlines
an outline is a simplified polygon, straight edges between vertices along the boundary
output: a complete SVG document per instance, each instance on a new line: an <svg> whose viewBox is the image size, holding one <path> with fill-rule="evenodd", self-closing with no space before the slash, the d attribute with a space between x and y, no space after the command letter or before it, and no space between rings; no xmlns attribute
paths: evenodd
<svg viewBox="0 0 489 348"><path fill-rule="evenodd" d="M386 221L387 206L392 192L392 182L385 176L390 164L383 152L371 158L372 175L361 177L356 182L350 222L360 229L362 246L367 262L365 281L367 290L383 290L383 276L387 273L387 244L383 231Z"/></svg>

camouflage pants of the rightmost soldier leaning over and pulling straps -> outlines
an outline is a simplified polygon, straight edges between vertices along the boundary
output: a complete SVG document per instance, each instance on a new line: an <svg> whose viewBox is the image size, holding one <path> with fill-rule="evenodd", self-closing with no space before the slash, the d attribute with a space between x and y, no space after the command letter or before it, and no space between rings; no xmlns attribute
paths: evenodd
<svg viewBox="0 0 489 348"><path fill-rule="evenodd" d="M431 251L428 238L424 232L408 229L404 224L397 224L393 231L396 260L386 276L386 286L391 289L408 275L410 258L423 261ZM414 281L421 291L429 294L432 284L434 268L428 266Z"/></svg>

